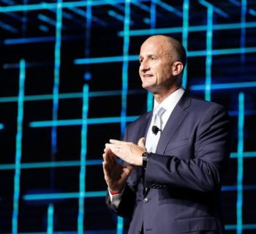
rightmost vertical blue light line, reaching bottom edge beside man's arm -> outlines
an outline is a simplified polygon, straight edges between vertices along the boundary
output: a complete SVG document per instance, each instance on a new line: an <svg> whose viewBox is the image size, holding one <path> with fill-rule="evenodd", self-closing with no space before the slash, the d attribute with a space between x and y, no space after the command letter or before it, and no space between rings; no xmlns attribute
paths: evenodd
<svg viewBox="0 0 256 234"><path fill-rule="evenodd" d="M238 96L238 172L237 172L237 200L236 200L236 233L243 233L243 176L244 176L244 93Z"/></svg>

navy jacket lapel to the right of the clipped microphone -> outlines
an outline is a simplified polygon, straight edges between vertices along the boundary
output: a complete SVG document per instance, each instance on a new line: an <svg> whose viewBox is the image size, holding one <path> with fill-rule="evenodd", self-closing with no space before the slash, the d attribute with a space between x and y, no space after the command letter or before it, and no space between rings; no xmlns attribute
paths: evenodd
<svg viewBox="0 0 256 234"><path fill-rule="evenodd" d="M173 137L174 133L187 116L187 111L185 110L190 105L191 99L187 96L186 92L178 101L173 112L167 120L165 129L162 131L159 143L157 145L156 154L164 154L165 148L169 143L170 139Z"/></svg>

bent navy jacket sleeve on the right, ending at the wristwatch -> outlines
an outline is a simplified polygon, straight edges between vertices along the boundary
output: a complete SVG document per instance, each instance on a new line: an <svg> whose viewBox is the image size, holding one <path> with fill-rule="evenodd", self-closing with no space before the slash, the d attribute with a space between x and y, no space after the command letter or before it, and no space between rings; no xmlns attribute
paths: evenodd
<svg viewBox="0 0 256 234"><path fill-rule="evenodd" d="M194 152L190 156L180 159L175 155L150 154L146 187L161 184L203 192L220 189L230 154L229 121L224 107L212 105L200 118L196 129Z"/></svg>

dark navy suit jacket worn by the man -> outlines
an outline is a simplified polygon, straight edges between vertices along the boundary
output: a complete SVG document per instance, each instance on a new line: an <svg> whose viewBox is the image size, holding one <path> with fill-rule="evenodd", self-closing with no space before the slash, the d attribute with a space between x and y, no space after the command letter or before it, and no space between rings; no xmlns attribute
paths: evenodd
<svg viewBox="0 0 256 234"><path fill-rule="evenodd" d="M145 137L152 112L127 126L124 140ZM219 208L222 174L229 158L224 107L187 96L171 113L146 170L135 167L118 208L130 216L129 233L224 233ZM148 188L148 189L145 189Z"/></svg>

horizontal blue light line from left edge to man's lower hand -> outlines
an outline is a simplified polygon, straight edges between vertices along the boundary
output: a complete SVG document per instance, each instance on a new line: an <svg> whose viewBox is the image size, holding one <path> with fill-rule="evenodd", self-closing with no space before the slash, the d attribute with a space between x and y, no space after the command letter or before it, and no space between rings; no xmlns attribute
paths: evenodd
<svg viewBox="0 0 256 234"><path fill-rule="evenodd" d="M20 169L35 169L49 167L84 167L102 165L101 159L86 160L85 163L80 161L59 161L59 162L26 162L20 163ZM14 170L15 164L2 164L0 170Z"/></svg>

